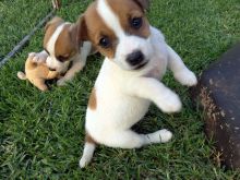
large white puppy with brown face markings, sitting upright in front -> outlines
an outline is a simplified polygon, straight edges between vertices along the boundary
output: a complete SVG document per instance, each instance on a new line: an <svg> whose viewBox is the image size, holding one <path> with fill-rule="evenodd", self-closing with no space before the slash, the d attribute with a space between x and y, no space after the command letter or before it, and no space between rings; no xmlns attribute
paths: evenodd
<svg viewBox="0 0 240 180"><path fill-rule="evenodd" d="M137 148L168 142L172 136L168 130L137 134L131 127L144 117L151 101L164 112L181 109L178 95L158 81L167 68L181 84L196 84L194 73L163 34L149 26L144 15L147 5L147 0L97 0L82 17L82 28L87 29L82 38L106 58L88 101L81 167L91 161L96 144Z"/></svg>

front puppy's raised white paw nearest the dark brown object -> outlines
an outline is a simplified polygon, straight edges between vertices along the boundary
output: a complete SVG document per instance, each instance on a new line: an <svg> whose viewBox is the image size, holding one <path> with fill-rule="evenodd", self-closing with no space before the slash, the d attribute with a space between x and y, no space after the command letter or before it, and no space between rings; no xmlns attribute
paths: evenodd
<svg viewBox="0 0 240 180"><path fill-rule="evenodd" d="M175 77L182 84L187 86L194 86L197 84L195 74L190 70L184 70L177 72Z"/></svg>

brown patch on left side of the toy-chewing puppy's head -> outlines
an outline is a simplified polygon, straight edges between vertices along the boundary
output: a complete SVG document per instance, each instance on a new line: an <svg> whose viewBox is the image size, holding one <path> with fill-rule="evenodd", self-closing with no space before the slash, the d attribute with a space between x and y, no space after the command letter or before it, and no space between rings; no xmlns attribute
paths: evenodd
<svg viewBox="0 0 240 180"><path fill-rule="evenodd" d="M44 47L46 48L48 40L57 29L59 25L64 23L64 21L58 16L51 19L45 26L45 37L44 37Z"/></svg>

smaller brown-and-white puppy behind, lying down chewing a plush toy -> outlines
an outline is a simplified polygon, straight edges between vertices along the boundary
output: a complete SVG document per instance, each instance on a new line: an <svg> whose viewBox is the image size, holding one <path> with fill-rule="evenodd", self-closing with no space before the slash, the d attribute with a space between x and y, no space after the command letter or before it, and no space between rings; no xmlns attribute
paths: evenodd
<svg viewBox="0 0 240 180"><path fill-rule="evenodd" d="M45 27L45 50L36 53L33 60L41 62L47 59L49 69L63 74L67 72L62 79L58 80L58 85L64 85L65 82L71 81L86 63L92 45L89 41L82 43L79 34L81 34L79 22L71 24L58 16L48 22ZM69 69L70 63L72 64Z"/></svg>

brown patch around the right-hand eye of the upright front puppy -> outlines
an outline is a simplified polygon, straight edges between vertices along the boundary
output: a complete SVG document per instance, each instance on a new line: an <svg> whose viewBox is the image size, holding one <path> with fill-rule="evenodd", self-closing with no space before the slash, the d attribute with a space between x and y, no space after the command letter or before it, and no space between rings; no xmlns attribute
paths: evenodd
<svg viewBox="0 0 240 180"><path fill-rule="evenodd" d="M148 7L147 0L107 0L109 7L119 17L123 31L130 35L147 38L149 36L149 23L145 16L145 10ZM132 26L134 19L141 19L142 25L139 28Z"/></svg>

